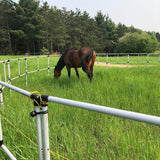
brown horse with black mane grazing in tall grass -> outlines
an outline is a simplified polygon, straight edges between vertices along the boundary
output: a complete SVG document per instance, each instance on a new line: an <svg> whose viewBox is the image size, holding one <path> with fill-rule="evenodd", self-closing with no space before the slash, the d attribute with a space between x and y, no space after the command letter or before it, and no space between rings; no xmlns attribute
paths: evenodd
<svg viewBox="0 0 160 160"><path fill-rule="evenodd" d="M82 67L83 71L87 73L90 82L93 77L93 66L96 59L96 53L91 48L81 48L79 50L68 49L60 57L54 69L54 78L61 76L61 70L66 66L68 76L70 77L70 69L75 68L77 77L79 78L78 68Z"/></svg>

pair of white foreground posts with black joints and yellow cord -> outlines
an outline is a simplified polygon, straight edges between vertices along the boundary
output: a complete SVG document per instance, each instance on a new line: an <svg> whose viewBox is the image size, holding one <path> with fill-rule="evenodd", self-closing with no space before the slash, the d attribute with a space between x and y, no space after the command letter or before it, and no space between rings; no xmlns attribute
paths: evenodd
<svg viewBox="0 0 160 160"><path fill-rule="evenodd" d="M39 160L43 159L50 160L49 131L48 131L48 96L47 95L39 96L36 94L32 94L31 98L34 101L34 107L35 107L35 111L31 112L31 116L32 117L36 116ZM41 115L43 117L43 134L42 134Z"/></svg>

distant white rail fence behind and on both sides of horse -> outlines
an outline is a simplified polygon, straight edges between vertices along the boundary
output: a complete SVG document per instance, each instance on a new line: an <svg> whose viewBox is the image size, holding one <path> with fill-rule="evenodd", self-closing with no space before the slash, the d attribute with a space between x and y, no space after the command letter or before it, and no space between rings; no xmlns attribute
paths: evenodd
<svg viewBox="0 0 160 160"><path fill-rule="evenodd" d="M146 63L147 66L149 65L149 63L159 63L160 64L160 53L159 54L153 54L153 53L96 53L97 54L97 58L96 58L96 61L97 63L99 63L99 58L101 56L106 56L106 67L108 67L108 64L127 64L127 67L129 67L129 64L132 64L132 63ZM125 56L126 57L126 61L120 61L120 58ZM137 61L132 61L130 60L130 57L132 56L137 56ZM140 56L146 56L146 60L145 61L141 61L140 60ZM154 56L156 57L156 59L153 61L153 60L150 60L150 56ZM38 72L38 71L43 71L43 70L47 70L48 71L48 75L49 75L49 70L50 69L53 69L54 66L50 66L50 57L51 55L44 55L44 56L31 56L31 57L25 57L25 58L17 58L17 59L9 59L9 60L3 60L3 61L0 61L0 64L3 64L3 71L4 71L4 81L5 82L8 82L9 84L11 84L11 81L14 80L14 79L17 79L19 77L22 77L22 76L25 76L26 77L26 85L28 84L28 81L27 81L27 76L28 74L30 73L34 73L34 72ZM55 56L52 56L52 57L55 57ZM110 57L117 57L116 58L116 61L109 61L109 58ZM40 68L40 58L47 58L48 59L48 62L46 64L46 67L45 68ZM37 67L35 70L32 70L32 71L28 71L28 61L29 59L37 59ZM14 77L11 77L11 73L10 73L10 63L11 62L17 62L17 69L18 69L18 73L16 76ZM21 62L24 62L25 61L25 64L23 65L23 67L25 68L25 71L21 71ZM7 65L7 67L6 67ZM8 71L8 75L7 75L7 72ZM7 80L7 77L8 77L8 80Z"/></svg>

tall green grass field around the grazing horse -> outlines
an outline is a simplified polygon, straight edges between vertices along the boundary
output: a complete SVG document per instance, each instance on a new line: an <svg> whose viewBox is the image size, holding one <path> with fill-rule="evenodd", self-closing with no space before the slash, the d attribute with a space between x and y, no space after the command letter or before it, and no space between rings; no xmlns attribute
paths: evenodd
<svg viewBox="0 0 160 160"><path fill-rule="evenodd" d="M0 57L2 58L2 57ZM58 57L50 60L54 66ZM40 64L46 67L47 58ZM21 67L23 68L23 62ZM1 65L1 64L0 64ZM3 66L0 66L3 78ZM37 61L28 60L28 71L35 70ZM21 72L25 70L21 68ZM46 67L47 68L47 67ZM79 69L71 78L63 69L62 76L53 79L46 71L28 74L12 81L27 91L39 91L55 97L88 102L149 115L160 116L160 66L116 68L95 66L93 81ZM11 64L12 77L18 74L17 62ZM32 101L19 93L4 89L4 110L0 113L26 136L37 143L35 117ZM160 128L101 113L49 103L50 149L72 160L158 160L160 159ZM38 148L2 119L4 144L19 160L37 160ZM1 159L7 159L0 149ZM51 159L63 159L51 154Z"/></svg>

